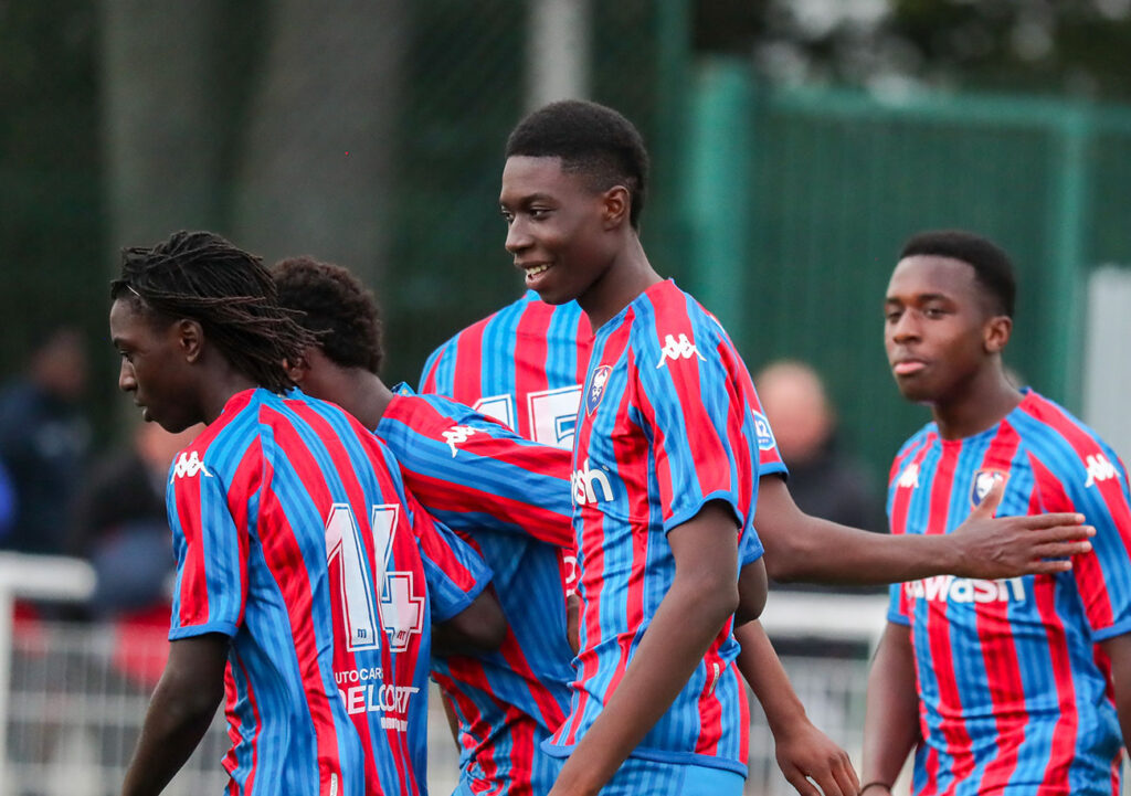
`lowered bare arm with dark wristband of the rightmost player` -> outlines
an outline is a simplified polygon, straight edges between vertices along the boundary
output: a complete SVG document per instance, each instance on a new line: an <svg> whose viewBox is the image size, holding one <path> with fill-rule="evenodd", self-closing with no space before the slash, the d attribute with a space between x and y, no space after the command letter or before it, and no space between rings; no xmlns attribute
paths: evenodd
<svg viewBox="0 0 1131 796"><path fill-rule="evenodd" d="M907 755L918 742L910 629L889 622L867 675L862 796L890 794Z"/></svg>

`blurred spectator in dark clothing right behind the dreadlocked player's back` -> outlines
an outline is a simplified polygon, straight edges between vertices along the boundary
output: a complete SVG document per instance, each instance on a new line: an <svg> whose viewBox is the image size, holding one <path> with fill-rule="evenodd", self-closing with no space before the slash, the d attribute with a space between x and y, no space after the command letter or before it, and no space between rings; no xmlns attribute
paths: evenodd
<svg viewBox="0 0 1131 796"><path fill-rule="evenodd" d="M69 552L97 578L90 609L101 616L165 607L173 572L165 485L178 451L200 433L170 434L156 423L133 431L128 448L96 462L76 504Z"/></svg>

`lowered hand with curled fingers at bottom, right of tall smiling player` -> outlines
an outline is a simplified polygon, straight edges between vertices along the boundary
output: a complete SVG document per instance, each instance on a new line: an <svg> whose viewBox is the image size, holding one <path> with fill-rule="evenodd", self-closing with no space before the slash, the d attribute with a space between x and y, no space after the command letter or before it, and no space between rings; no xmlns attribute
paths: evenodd
<svg viewBox="0 0 1131 796"><path fill-rule="evenodd" d="M801 796L855 796L860 790L848 753L809 719L776 733L774 741L778 768Z"/></svg>

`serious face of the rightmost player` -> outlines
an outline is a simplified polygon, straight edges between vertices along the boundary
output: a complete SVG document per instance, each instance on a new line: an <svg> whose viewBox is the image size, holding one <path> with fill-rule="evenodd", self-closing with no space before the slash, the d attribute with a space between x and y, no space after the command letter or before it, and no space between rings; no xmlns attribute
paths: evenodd
<svg viewBox="0 0 1131 796"><path fill-rule="evenodd" d="M908 400L960 398L988 362L992 313L966 262L925 254L900 260L883 317L888 363Z"/></svg>

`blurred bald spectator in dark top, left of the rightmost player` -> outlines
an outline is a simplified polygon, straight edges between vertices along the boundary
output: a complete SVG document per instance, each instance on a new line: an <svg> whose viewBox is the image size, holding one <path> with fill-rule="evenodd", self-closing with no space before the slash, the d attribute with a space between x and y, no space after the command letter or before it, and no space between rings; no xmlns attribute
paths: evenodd
<svg viewBox="0 0 1131 796"><path fill-rule="evenodd" d="M886 531L883 499L863 464L839 450L836 414L817 371L782 360L763 367L754 383L798 508L854 528Z"/></svg>

